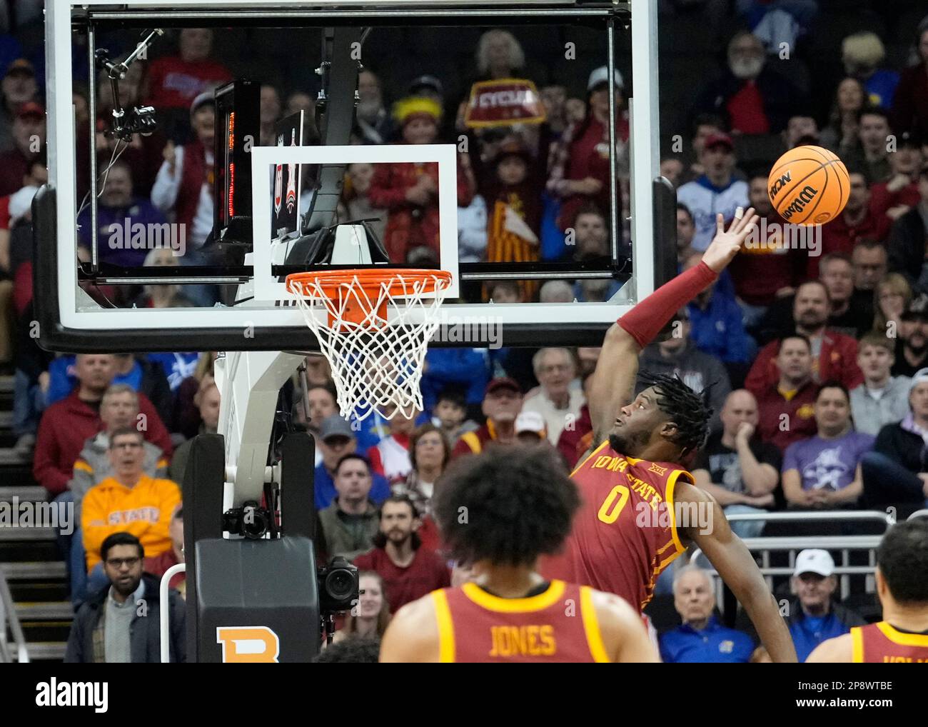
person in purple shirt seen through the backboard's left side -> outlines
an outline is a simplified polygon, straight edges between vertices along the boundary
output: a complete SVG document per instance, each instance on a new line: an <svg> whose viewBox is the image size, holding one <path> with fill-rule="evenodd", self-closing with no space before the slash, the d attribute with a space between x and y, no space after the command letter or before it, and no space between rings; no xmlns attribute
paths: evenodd
<svg viewBox="0 0 928 727"><path fill-rule="evenodd" d="M78 250L82 260L90 260L94 236L90 229L90 205L78 215L80 227ZM148 200L135 198L132 193L132 169L117 161L106 176L106 186L97 204L97 259L101 263L120 267L144 265L148 252L155 245L174 246L180 258L186 252L186 235L172 232L167 218Z"/></svg>

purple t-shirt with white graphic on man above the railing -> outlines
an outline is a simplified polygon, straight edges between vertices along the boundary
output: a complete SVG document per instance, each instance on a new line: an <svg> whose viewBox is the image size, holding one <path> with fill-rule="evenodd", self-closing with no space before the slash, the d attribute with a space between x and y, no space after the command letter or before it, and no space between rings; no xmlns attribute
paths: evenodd
<svg viewBox="0 0 928 727"><path fill-rule="evenodd" d="M842 489L854 482L857 464L873 441L871 435L852 431L840 439L813 436L794 442L783 455L783 472L798 470L803 489Z"/></svg>

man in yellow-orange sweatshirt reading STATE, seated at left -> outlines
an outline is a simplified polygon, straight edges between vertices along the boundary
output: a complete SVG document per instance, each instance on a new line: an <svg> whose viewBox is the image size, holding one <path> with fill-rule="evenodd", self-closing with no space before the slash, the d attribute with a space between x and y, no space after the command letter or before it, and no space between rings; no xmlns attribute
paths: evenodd
<svg viewBox="0 0 928 727"><path fill-rule="evenodd" d="M142 433L133 428L110 435L113 474L87 491L81 512L88 572L100 562L100 546L113 533L132 533L146 556L171 548L168 528L180 504L180 489L171 480L144 474L144 441Z"/></svg>

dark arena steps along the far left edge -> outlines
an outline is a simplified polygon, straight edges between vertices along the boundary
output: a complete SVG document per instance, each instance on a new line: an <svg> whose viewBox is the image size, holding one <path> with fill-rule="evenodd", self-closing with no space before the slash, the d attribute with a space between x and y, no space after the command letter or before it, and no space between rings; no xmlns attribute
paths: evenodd
<svg viewBox="0 0 928 727"><path fill-rule="evenodd" d="M32 459L13 448L13 377L0 376L0 507L41 503L44 487L32 479ZM2 511L0 511L2 512ZM16 604L26 648L33 661L60 661L71 630L68 575L52 527L9 526L0 521L0 572ZM12 634L7 633L8 643Z"/></svg>

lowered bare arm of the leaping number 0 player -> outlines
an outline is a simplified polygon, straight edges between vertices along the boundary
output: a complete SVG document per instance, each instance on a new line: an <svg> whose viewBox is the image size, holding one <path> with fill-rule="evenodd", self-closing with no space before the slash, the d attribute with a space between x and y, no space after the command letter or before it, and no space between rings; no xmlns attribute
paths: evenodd
<svg viewBox="0 0 928 727"><path fill-rule="evenodd" d="M709 562L715 566L728 588L744 606L761 643L774 662L796 661L796 650L786 623L780 616L780 609L767 588L767 582L761 575L751 552L744 547L741 539L731 532L728 520L721 506L708 493L690 485L689 482L677 483L676 503L693 502L697 507L689 511L680 508L680 512L704 513L705 504L711 507L706 522L681 523L682 534L696 543ZM700 507L699 505L702 505Z"/></svg>

